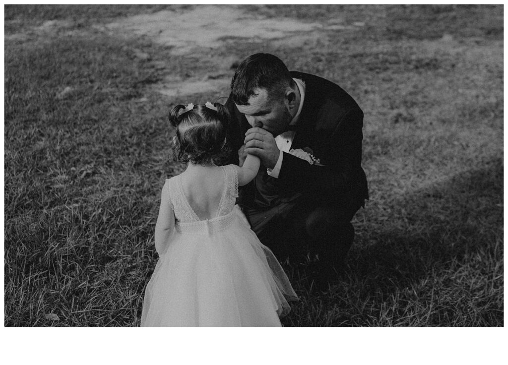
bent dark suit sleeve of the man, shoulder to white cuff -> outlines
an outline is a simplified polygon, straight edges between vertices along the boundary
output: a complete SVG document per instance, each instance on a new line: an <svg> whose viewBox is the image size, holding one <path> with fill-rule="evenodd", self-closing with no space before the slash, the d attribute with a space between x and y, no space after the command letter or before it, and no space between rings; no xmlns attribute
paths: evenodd
<svg viewBox="0 0 508 365"><path fill-rule="evenodd" d="M296 191L325 194L330 200L352 202L358 197L361 180L363 112L352 109L345 113L323 146L315 146L317 157L325 166L285 153L279 180ZM363 201L362 201L363 203Z"/></svg>

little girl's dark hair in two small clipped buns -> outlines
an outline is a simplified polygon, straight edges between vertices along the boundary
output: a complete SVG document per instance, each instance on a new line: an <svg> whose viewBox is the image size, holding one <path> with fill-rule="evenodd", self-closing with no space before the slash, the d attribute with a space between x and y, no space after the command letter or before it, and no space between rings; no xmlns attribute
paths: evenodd
<svg viewBox="0 0 508 365"><path fill-rule="evenodd" d="M176 129L173 143L175 161L220 165L229 156L226 143L229 111L219 103L213 106L217 111L200 104L180 114L180 110L185 109L180 104L169 113L169 121Z"/></svg>

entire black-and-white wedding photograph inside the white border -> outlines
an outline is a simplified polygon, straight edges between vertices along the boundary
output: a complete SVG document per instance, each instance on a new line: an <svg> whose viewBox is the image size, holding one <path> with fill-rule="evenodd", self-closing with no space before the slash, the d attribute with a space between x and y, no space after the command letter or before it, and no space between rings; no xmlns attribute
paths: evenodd
<svg viewBox="0 0 508 365"><path fill-rule="evenodd" d="M5 5L4 327L504 327L503 11Z"/></svg>

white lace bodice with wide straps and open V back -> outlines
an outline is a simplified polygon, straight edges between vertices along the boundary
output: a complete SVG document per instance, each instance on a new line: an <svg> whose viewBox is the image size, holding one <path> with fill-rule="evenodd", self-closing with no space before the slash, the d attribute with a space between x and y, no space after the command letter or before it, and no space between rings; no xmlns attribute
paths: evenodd
<svg viewBox="0 0 508 365"><path fill-rule="evenodd" d="M221 166L220 168L223 170L226 184L220 198L217 214L212 219L200 220L192 207L190 207L183 192L180 175L167 180L169 200L175 213L177 230L185 230L183 227L199 227L203 224L205 224L208 229L219 228L214 227L214 225L220 226L220 222L231 220L228 218L232 215L235 201L238 197L238 175L235 166L232 164Z"/></svg>

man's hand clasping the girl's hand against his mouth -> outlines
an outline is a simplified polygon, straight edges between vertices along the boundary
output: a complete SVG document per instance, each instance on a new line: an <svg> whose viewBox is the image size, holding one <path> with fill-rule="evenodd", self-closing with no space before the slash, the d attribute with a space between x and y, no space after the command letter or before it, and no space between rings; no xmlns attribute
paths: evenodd
<svg viewBox="0 0 508 365"><path fill-rule="evenodd" d="M273 135L259 127L250 128L245 133L245 153L258 156L261 163L268 169L273 169L279 159L279 149Z"/></svg>

